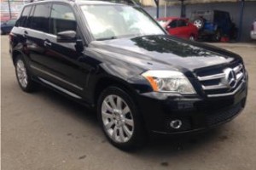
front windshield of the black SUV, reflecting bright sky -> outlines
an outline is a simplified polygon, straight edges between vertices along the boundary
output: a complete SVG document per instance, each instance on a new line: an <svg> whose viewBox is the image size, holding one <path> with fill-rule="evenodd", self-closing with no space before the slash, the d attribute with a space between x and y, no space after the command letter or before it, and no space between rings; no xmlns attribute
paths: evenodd
<svg viewBox="0 0 256 170"><path fill-rule="evenodd" d="M124 5L81 6L96 40L165 34L140 8Z"/></svg>

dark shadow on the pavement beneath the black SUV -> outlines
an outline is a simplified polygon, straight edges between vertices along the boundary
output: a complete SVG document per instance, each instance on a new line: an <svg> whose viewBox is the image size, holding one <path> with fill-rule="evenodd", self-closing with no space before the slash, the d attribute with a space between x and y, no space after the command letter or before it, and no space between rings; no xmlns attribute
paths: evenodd
<svg viewBox="0 0 256 170"><path fill-rule="evenodd" d="M100 126L97 121L96 111L73 101L72 99L67 99L63 95L58 94L49 88L43 88L38 92L41 96L46 99L51 99L55 101L55 105L61 105L65 110L70 112L70 115L78 120L79 122L88 123L91 127L95 127L100 131ZM183 153L186 151L197 150L201 147L206 147L206 145L212 145L212 143L218 141L224 141L227 139L226 136L221 136L220 131L222 127L216 129L211 129L203 133L192 133L192 134L179 134L172 136L150 136L148 137L148 142L142 148L138 150L132 150L128 152L132 156L147 157L147 156L175 156L178 153ZM104 141L105 137L102 135ZM104 142L105 143L105 142ZM118 149L117 149L118 150ZM165 166L165 162L163 165Z"/></svg>

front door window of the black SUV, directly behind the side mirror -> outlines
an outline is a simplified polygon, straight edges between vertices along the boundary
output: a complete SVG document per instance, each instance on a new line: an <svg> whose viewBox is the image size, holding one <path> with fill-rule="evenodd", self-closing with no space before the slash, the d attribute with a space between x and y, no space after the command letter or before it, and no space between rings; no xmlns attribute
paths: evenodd
<svg viewBox="0 0 256 170"><path fill-rule="evenodd" d="M61 31L76 31L77 22L72 8L67 5L53 4L49 18L49 33L57 35Z"/></svg>

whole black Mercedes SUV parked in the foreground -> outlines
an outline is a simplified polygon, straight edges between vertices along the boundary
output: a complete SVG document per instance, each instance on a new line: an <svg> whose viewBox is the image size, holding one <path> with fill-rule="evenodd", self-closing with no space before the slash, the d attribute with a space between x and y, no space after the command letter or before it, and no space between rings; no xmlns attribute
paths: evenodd
<svg viewBox="0 0 256 170"><path fill-rule="evenodd" d="M30 3L9 38L20 88L43 84L96 108L120 149L142 145L150 133L216 127L246 104L240 56L169 36L137 5Z"/></svg>

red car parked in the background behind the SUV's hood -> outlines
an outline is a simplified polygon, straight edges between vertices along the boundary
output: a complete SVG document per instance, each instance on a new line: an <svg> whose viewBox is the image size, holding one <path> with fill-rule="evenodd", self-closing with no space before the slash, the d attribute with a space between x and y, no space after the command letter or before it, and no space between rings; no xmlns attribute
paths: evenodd
<svg viewBox="0 0 256 170"><path fill-rule="evenodd" d="M163 26L172 36L192 41L196 40L198 37L198 29L192 23L189 23L189 19L166 17L159 18L157 21L160 23L160 26Z"/></svg>

